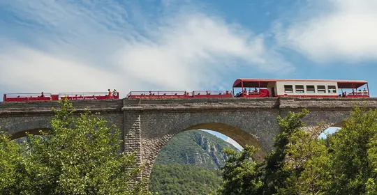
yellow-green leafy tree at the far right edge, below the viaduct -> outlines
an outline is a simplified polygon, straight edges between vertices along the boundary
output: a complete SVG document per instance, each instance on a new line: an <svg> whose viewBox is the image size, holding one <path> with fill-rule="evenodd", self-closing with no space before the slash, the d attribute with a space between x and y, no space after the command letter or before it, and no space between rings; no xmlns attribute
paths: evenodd
<svg viewBox="0 0 377 195"><path fill-rule="evenodd" d="M357 107L329 141L328 194L375 194L377 110Z"/></svg>

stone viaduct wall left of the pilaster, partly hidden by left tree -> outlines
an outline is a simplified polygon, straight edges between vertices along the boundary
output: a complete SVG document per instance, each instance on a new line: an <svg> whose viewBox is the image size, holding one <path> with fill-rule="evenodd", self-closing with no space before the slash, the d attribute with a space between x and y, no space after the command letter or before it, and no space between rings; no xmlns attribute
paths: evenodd
<svg viewBox="0 0 377 195"><path fill-rule="evenodd" d="M58 108L59 104L50 101L0 102L0 131L6 131L13 135L13 139L17 139L24 137L25 132L36 134L38 130L48 130L51 128L50 122L54 114L52 107ZM92 113L99 112L105 120L123 131L121 100L77 101L73 102L73 107L77 111L88 108Z"/></svg>

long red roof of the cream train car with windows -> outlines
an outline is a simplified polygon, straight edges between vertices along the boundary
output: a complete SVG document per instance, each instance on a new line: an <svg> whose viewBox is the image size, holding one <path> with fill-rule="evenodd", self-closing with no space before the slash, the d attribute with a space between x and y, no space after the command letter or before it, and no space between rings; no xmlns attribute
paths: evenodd
<svg viewBox="0 0 377 195"><path fill-rule="evenodd" d="M269 82L276 81L308 81L308 82L337 82L338 88L359 88L368 81L362 80L330 80L330 79L237 79L233 84L233 87L241 87L241 82L244 83L244 87L267 87Z"/></svg>

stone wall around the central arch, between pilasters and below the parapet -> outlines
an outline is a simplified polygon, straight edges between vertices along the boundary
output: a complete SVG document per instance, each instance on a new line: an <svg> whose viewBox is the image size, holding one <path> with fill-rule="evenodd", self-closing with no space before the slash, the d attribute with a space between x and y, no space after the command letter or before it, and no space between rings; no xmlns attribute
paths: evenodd
<svg viewBox="0 0 377 195"><path fill-rule="evenodd" d="M161 148L180 132L186 130L214 130L231 137L241 146L258 146L262 150L256 159L263 159L272 149L274 134L279 130L276 117L279 112L271 111L211 111L188 113L142 114L142 162L151 171Z"/></svg>

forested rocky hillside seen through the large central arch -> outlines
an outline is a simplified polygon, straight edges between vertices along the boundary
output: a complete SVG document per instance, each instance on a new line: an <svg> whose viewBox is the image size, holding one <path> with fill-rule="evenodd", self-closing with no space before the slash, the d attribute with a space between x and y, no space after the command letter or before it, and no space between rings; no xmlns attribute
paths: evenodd
<svg viewBox="0 0 377 195"><path fill-rule="evenodd" d="M158 194L209 194L221 186L221 171L230 143L208 132L192 130L173 137L161 150L149 189Z"/></svg>

